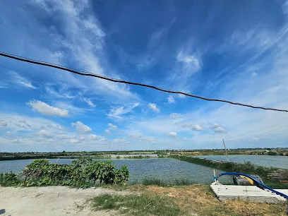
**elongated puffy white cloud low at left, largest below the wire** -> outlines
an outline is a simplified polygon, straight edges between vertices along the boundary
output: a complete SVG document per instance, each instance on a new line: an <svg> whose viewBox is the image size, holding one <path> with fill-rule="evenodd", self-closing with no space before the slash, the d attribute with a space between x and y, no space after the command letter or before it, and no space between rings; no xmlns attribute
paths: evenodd
<svg viewBox="0 0 288 216"><path fill-rule="evenodd" d="M30 100L30 102L28 102L27 104L32 107L33 110L36 110L37 112L40 112L44 115L61 117L68 116L68 110L52 107L49 104L46 104L40 100Z"/></svg>

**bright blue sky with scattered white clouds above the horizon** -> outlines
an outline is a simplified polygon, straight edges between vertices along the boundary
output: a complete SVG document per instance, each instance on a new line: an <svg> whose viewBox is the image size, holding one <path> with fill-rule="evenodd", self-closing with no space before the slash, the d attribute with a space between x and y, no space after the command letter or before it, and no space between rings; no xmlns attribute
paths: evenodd
<svg viewBox="0 0 288 216"><path fill-rule="evenodd" d="M0 50L288 109L288 1L1 1ZM0 57L1 152L287 147L288 115Z"/></svg>

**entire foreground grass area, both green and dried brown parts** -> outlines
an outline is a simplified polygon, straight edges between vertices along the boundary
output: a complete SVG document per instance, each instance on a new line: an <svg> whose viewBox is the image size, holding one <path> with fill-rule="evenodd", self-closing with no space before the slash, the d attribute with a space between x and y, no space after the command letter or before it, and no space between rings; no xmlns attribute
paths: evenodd
<svg viewBox="0 0 288 216"><path fill-rule="evenodd" d="M113 210L116 215L285 215L284 203L220 202L210 186L135 185L128 189L128 195L103 194L92 198L90 205L94 210Z"/></svg>

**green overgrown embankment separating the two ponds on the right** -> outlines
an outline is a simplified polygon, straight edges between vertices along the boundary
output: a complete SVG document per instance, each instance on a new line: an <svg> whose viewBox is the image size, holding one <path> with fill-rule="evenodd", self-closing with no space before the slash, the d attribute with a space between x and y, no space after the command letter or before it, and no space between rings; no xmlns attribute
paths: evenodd
<svg viewBox="0 0 288 216"><path fill-rule="evenodd" d="M199 157L187 157L187 156L170 156L174 159L191 162L193 164L203 165L205 167L211 167L215 169L220 169L225 172L243 172L245 174L258 174L265 185L273 188L288 188L287 183L281 183L276 179L269 178L268 174L276 172L278 168L273 167L260 167L252 164L251 162L245 162L244 164L234 163L234 162L220 162L215 160L207 160Z"/></svg>

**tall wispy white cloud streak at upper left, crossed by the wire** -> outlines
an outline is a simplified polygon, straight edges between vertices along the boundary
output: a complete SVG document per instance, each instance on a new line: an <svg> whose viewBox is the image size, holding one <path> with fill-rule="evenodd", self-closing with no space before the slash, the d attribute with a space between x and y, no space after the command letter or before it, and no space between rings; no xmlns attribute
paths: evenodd
<svg viewBox="0 0 288 216"><path fill-rule="evenodd" d="M63 34L57 34L56 31L53 31L53 37L48 37L47 35L51 34L48 30L47 35L43 35L49 42L48 44L53 43L55 46L58 45L59 49L65 49L65 55L71 61L76 61L85 71L120 78L119 74L110 70L109 65L105 64L106 58L103 52L105 33L100 28L99 20L92 11L88 10L91 7L90 1L42 0L33 1L33 4L38 6L46 16L61 19L63 24L61 30L65 32L65 37ZM50 47L45 48L51 50ZM54 50L51 52L54 53ZM59 57L61 56L56 56L60 61L61 58ZM73 76L69 78L72 82L77 81L92 94L104 95L106 100L107 95L121 100L138 99L138 95L133 94L128 85L125 84L112 83L101 79L78 78L75 80ZM66 76L61 79L67 80Z"/></svg>

